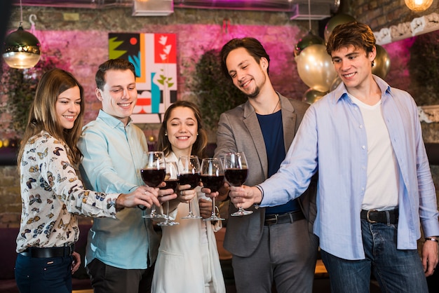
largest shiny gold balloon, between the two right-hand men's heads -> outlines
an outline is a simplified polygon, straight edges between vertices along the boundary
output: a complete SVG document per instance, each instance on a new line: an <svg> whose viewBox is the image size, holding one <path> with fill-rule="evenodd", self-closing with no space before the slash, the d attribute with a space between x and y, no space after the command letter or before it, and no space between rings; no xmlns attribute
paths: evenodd
<svg viewBox="0 0 439 293"><path fill-rule="evenodd" d="M325 45L311 45L295 58L300 79L313 90L325 93L337 77Z"/></svg>

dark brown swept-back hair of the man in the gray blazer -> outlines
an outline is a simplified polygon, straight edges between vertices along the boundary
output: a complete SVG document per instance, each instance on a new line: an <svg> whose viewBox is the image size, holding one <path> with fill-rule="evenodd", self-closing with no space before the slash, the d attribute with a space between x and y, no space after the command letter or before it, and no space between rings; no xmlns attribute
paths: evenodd
<svg viewBox="0 0 439 293"><path fill-rule="evenodd" d="M266 53L264 46L262 46L262 44L259 41L257 41L257 39L250 37L245 37L242 39L231 39L222 47L221 53L219 55L221 57L221 69L229 79L231 79L231 77L226 65L227 56L229 56L229 53L232 50L235 50L237 48L245 48L245 50L247 50L247 52L253 58L255 58L257 63L259 63L261 57L264 57L270 64L269 55ZM266 67L266 73L267 74L269 73L269 66Z"/></svg>

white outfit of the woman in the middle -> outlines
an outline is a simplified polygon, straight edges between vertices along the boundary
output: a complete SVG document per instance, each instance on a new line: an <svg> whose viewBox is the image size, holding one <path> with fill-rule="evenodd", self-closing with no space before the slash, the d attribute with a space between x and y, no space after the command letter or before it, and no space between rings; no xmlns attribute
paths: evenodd
<svg viewBox="0 0 439 293"><path fill-rule="evenodd" d="M177 161L170 154L167 161ZM197 187L199 190L200 188ZM198 198L204 193L198 191ZM200 214L198 198L192 200L192 212ZM222 227L203 219L181 219L189 204L180 203L170 217L180 225L161 226L162 238L152 280L154 293L225 293L214 232Z"/></svg>

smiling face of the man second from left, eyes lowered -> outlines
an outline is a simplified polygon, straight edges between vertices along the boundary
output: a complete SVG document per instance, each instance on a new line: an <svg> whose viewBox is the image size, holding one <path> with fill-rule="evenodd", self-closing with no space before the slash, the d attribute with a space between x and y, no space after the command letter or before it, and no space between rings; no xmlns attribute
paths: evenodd
<svg viewBox="0 0 439 293"><path fill-rule="evenodd" d="M102 110L126 125L137 102L135 76L129 69L110 69L105 72L105 81L102 90L96 89L97 99L102 102Z"/></svg>

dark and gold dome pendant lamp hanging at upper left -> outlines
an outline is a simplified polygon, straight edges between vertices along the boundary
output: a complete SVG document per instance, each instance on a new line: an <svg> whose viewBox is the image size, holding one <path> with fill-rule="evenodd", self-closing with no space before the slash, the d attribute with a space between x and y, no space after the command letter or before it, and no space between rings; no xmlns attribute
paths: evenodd
<svg viewBox="0 0 439 293"><path fill-rule="evenodd" d="M3 58L9 67L25 69L36 65L40 60L40 42L36 36L26 32L23 27L23 8L20 0L20 26L8 34L4 41Z"/></svg>

